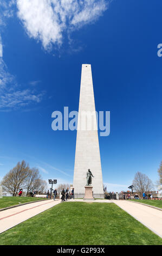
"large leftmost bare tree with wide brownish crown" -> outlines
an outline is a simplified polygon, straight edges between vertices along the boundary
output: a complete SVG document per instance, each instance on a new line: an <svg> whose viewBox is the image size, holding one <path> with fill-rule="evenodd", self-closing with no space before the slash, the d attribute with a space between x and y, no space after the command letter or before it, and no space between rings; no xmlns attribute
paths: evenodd
<svg viewBox="0 0 162 256"><path fill-rule="evenodd" d="M19 188L25 188L25 181L29 175L29 165L23 160L21 163L18 162L17 165L7 173L1 184L3 190L12 194L12 196L17 195Z"/></svg>

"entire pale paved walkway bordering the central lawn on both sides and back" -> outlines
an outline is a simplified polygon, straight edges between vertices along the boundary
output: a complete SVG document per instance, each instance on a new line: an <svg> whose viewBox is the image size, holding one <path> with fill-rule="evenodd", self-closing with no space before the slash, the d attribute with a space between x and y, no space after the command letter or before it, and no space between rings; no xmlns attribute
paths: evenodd
<svg viewBox="0 0 162 256"><path fill-rule="evenodd" d="M88 203L115 203L121 209L132 215L136 220L151 229L155 234L162 238L162 212L148 207L147 205L135 204L128 200L83 200L75 199L68 200L68 202L88 202ZM16 208L0 212L0 233L20 224L29 218L40 214L51 207L60 204L61 200L48 200L36 202L32 204L22 205ZM67 202L66 202L67 203Z"/></svg>

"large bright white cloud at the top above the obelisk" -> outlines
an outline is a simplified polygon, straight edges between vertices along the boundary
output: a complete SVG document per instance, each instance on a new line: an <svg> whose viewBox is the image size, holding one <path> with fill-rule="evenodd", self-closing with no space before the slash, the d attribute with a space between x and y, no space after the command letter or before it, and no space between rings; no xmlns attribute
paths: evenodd
<svg viewBox="0 0 162 256"><path fill-rule="evenodd" d="M49 50L60 46L63 33L96 21L108 8L108 0L17 0L17 16L30 36Z"/></svg>

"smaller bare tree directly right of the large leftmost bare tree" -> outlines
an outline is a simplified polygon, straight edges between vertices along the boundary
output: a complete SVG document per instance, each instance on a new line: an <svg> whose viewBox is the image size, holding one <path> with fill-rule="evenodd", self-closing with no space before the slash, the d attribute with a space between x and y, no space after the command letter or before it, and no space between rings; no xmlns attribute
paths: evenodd
<svg viewBox="0 0 162 256"><path fill-rule="evenodd" d="M41 175L39 173L39 170L37 168L29 169L29 175L27 178L27 195L29 192L33 191L35 189L35 186L37 184L37 180L41 179Z"/></svg>

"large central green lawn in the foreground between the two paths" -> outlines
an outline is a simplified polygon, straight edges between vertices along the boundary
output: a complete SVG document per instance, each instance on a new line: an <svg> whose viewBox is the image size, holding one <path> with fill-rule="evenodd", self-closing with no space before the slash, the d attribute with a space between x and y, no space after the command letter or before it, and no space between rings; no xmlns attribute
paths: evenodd
<svg viewBox="0 0 162 256"><path fill-rule="evenodd" d="M162 245L113 203L64 202L0 235L0 245Z"/></svg>

